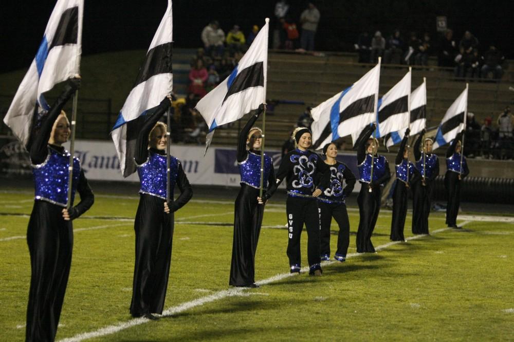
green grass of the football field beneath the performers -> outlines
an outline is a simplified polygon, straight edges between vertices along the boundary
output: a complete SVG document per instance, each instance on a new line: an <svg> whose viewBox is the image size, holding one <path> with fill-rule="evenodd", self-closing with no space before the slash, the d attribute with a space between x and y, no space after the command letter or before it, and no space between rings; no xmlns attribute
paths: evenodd
<svg viewBox="0 0 514 342"><path fill-rule="evenodd" d="M134 267L132 218L138 198L97 195L74 222L74 255L57 340L129 321ZM31 193L3 192L0 212L30 214ZM357 208L349 208L355 252ZM285 206L267 207L256 257L256 279L288 272ZM23 341L30 264L27 215L0 221L0 341ZM193 201L176 214L166 308L227 290L232 248L232 201ZM188 224L195 222L195 224ZM198 224L199 222L211 225ZM410 227L410 214L406 227ZM391 212L383 210L375 246L389 242ZM433 213L431 230L444 227ZM80 230L81 228L98 227ZM332 249L337 240L333 225ZM359 255L324 268L322 277L286 277L258 290L199 305L157 322L88 341L506 341L514 339L514 225L469 222L464 231ZM19 239L2 241L8 237ZM406 236L411 236L406 228ZM303 265L306 233L302 237ZM505 311L507 310L507 311Z"/></svg>

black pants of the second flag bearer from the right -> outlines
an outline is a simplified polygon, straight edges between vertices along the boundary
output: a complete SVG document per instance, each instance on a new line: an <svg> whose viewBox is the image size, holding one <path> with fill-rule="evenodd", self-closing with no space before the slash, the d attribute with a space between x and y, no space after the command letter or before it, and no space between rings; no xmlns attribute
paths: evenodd
<svg viewBox="0 0 514 342"><path fill-rule="evenodd" d="M433 182L421 183L421 180L413 184L414 200L412 204L412 233L428 234L428 216L432 202Z"/></svg>

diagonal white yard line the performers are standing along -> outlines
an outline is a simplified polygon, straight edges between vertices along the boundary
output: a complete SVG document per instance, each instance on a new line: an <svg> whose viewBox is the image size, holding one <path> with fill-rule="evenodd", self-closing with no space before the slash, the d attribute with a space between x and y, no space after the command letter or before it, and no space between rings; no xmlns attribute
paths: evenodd
<svg viewBox="0 0 514 342"><path fill-rule="evenodd" d="M471 222L471 221L463 222L463 223L461 223L461 226L464 226L464 225L468 224L469 222ZM450 229L452 229L452 228L437 229L437 230L432 231L431 234L434 235L434 234L437 234L439 232L443 232L443 231L450 230ZM410 240L416 240L416 239L424 238L424 237L426 237L426 235L416 235L416 236L413 236L413 237L409 237L406 240L410 241ZM398 243L401 243L401 241L394 241L394 242L390 242L390 243L386 243L386 244L377 246L375 248L375 250L386 249L387 247L390 247L390 246L398 244ZM351 254L348 254L346 256L346 258L354 258L354 257L357 257L359 255L361 255L361 254L351 253ZM334 263L338 263L338 261L335 261L335 260L333 260L333 261L324 261L324 262L322 262L322 265L323 266L328 266L328 265L331 265L331 264L334 264ZM309 271L309 266L304 266L301 269L301 272L308 272L308 271ZM260 285L265 285L265 284L273 283L273 282L276 282L276 281L279 281L279 280L283 280L283 279L286 279L286 278L289 278L289 277L293 277L293 276L297 276L297 274L282 273L282 274L278 274L278 275L273 276L273 277L269 277L267 279L260 280L257 283L260 284ZM204 305L204 304L216 301L216 300L221 300L221 299L224 299L224 298L227 298L227 297L246 296L246 293L244 292L246 290L248 290L248 288L246 288L246 287L231 287L228 290L218 291L218 292L213 293L212 295L208 295L208 296L205 296L205 297L200 297L200 298L197 298L197 299L194 299L194 300L191 300L191 301L188 301L188 302L176 305L175 307L168 308L168 309L166 309L166 310L164 310L162 312L162 316L173 316L173 315L176 315L178 313L187 311L189 309L192 309L192 308L195 308L195 307L200 307L201 305ZM128 328L136 327L136 326L139 326L139 325L141 325L143 323L147 323L147 322L150 322L150 320L146 319L146 318L133 318L131 320L128 320L128 321L125 321L125 322L118 322L118 323L115 323L115 324L113 324L111 326L100 328L100 329L95 330L95 331L80 333L80 334L77 334L77 335L75 335L73 337L64 338L64 339L59 340L58 342L81 342L83 340L90 339L90 338L96 338L96 337L102 337L102 336L106 336L106 335L111 335L111 334L114 334L116 332L119 332L119 331L122 331L122 330L125 330L125 329L128 329Z"/></svg>

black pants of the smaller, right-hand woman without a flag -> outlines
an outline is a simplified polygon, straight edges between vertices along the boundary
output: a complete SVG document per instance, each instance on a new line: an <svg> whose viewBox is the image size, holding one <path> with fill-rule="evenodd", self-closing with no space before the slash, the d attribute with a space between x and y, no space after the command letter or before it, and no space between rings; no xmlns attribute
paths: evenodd
<svg viewBox="0 0 514 342"><path fill-rule="evenodd" d="M321 255L330 255L330 225L334 218L339 225L339 235L337 237L337 255L346 257L348 244L350 244L350 221L344 204L329 204L318 201L320 208L321 222Z"/></svg>

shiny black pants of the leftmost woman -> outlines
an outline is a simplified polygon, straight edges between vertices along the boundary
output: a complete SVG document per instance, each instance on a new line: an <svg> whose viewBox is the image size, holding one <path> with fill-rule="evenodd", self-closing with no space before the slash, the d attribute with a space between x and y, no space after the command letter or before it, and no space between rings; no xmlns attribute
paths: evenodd
<svg viewBox="0 0 514 342"><path fill-rule="evenodd" d="M27 229L30 292L26 342L52 342L57 333L73 248L71 221L63 207L35 201Z"/></svg>

